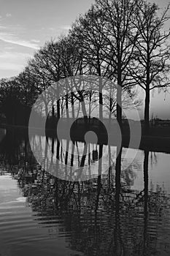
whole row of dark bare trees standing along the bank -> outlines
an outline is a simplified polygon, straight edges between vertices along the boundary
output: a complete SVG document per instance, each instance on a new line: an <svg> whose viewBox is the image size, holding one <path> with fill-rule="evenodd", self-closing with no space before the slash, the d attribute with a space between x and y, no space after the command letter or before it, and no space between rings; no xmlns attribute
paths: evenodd
<svg viewBox="0 0 170 256"><path fill-rule="evenodd" d="M144 0L96 0L85 15L77 18L68 35L46 42L23 72L10 80L1 80L0 106L8 123L28 125L32 105L53 83L77 75L95 75L119 86L115 91L112 83L107 85L109 97L105 97L100 79L97 95L93 87L67 94L66 83L58 83L61 97L53 101L56 110L52 107L52 115L60 118L66 113L66 117L77 117L77 105L78 112L82 108L82 113L90 116L99 103L99 117L108 110L108 117L115 115L121 125L123 108L140 105L136 89L141 88L145 94L144 122L148 132L150 93L169 86L168 11L169 6L160 10ZM126 94L131 96L132 104L127 102ZM45 111L49 111L47 105Z"/></svg>

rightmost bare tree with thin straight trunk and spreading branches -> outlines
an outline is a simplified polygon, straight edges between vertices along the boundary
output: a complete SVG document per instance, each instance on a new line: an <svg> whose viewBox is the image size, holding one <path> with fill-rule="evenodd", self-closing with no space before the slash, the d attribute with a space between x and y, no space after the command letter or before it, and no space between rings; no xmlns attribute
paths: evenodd
<svg viewBox="0 0 170 256"><path fill-rule="evenodd" d="M134 68L128 67L131 76L145 92L144 121L145 132L150 127L150 91L169 85L170 31L163 31L169 20L169 5L159 13L156 4L140 1L137 4L134 25L139 37L136 42Z"/></svg>

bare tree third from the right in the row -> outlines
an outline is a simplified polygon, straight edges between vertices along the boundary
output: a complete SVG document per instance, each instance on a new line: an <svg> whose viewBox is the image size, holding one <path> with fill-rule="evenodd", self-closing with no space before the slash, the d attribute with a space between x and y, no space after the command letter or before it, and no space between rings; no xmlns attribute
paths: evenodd
<svg viewBox="0 0 170 256"><path fill-rule="evenodd" d="M110 61L104 55L106 40L104 37L105 20L102 11L98 6L92 6L85 15L72 26L72 36L76 39L77 45L82 52L82 63L85 66L85 72L88 75L98 76L98 102L99 118L103 118L103 95L104 87L101 79L110 75ZM93 81L94 82L94 81Z"/></svg>

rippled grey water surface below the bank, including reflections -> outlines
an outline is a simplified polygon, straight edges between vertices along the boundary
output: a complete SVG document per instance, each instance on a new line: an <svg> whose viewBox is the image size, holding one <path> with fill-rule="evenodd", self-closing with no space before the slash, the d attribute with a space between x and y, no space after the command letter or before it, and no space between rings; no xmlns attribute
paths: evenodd
<svg viewBox="0 0 170 256"><path fill-rule="evenodd" d="M45 138L37 141L45 152ZM60 145L64 161L66 141ZM82 143L77 147L81 155ZM7 132L0 145L0 255L169 255L169 154L126 152L116 161L116 148L103 146L101 165L92 159L89 167L86 159L90 181L63 181L37 164L22 132Z"/></svg>

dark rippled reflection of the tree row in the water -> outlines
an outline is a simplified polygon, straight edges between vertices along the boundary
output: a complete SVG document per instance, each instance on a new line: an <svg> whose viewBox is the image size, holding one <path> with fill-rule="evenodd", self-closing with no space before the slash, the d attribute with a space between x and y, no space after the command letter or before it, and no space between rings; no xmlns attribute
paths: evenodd
<svg viewBox="0 0 170 256"><path fill-rule="evenodd" d="M108 146L107 173L102 173L104 146L98 146L96 159L90 158L89 145L85 146L86 157L80 157L79 143L72 143L71 165L74 165L74 151L78 153L79 170L85 165L98 163L98 176L88 181L64 181L42 170L36 163L26 136L9 132L1 143L1 167L6 168L18 180L18 186L27 197L39 219L39 225L49 227L57 242L58 233L66 236L71 249L83 255L159 255L164 249L168 255L166 242L163 242L161 230L165 222L164 211L169 209L169 196L163 190L152 191L149 188L150 152L144 151L143 178L144 189L133 189L134 170L122 168L123 148L113 161L112 147ZM50 138L49 138L50 140ZM37 143L37 140L34 141ZM39 143L42 145L41 137ZM69 161L69 153L63 154L62 141L52 140L52 150L56 158ZM39 144L39 145L40 145ZM39 146L38 145L38 146ZM69 152L69 141L66 143ZM40 148L45 151L46 162L53 165L53 157L47 156L47 145ZM58 165L58 161L57 161ZM65 166L68 176L69 167ZM125 171L129 172L129 176ZM69 175L72 176L72 173ZM126 178L125 178L126 177ZM125 183L125 181L127 181ZM62 226L58 226L58 219ZM166 219L166 225L169 219ZM69 234L69 236L68 236Z"/></svg>

